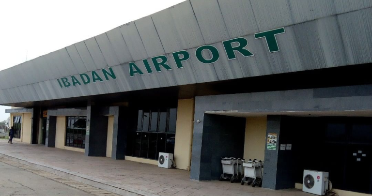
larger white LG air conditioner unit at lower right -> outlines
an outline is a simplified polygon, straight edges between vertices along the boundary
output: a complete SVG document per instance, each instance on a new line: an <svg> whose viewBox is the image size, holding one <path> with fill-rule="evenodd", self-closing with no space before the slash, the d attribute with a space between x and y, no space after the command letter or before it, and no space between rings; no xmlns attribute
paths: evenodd
<svg viewBox="0 0 372 196"><path fill-rule="evenodd" d="M302 191L324 196L328 192L328 172L304 170Z"/></svg>

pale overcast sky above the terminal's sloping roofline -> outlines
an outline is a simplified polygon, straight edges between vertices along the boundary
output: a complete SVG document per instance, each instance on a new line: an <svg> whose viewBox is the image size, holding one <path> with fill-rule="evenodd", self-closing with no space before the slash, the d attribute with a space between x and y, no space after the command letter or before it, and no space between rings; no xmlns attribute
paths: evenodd
<svg viewBox="0 0 372 196"><path fill-rule="evenodd" d="M2 0L0 70L83 41L185 0ZM7 106L0 106L0 121Z"/></svg>

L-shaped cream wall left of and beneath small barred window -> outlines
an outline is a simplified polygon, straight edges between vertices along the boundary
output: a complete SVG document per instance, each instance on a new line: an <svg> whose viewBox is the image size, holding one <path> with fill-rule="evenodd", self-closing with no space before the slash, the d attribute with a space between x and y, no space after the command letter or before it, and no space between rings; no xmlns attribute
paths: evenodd
<svg viewBox="0 0 372 196"><path fill-rule="evenodd" d="M73 148L64 146L64 141L66 137L66 117L58 116L57 117L57 124L56 124L56 144L55 148L65 149L70 151L78 151L78 152L85 152L84 149Z"/></svg>

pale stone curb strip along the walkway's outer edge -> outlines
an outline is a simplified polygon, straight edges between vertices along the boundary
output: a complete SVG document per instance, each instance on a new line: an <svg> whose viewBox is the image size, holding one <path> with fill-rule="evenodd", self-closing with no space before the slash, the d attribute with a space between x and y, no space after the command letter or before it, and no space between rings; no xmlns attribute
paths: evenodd
<svg viewBox="0 0 372 196"><path fill-rule="evenodd" d="M41 169L43 171L46 171L52 174L56 174L56 175L62 176L70 180L88 184L96 188L103 189L103 190L106 190L106 191L109 191L109 192L112 192L118 195L122 195L122 196L159 196L156 194L147 193L147 192L144 192L138 189L134 189L134 188L122 185L122 184L117 184L117 183L109 182L109 181L102 180L99 178L94 178L92 176L80 174L78 172L73 172L73 171L63 169L60 167L47 166L47 165L36 163L36 162L25 161L23 159L12 157L12 156L9 156L3 153L0 153L0 157L15 161L15 162L27 165L27 166L35 167L35 168Z"/></svg>

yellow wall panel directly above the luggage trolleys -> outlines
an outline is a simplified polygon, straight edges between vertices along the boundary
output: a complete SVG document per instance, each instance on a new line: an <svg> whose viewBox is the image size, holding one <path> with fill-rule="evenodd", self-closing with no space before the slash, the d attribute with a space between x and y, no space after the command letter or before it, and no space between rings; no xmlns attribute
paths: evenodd
<svg viewBox="0 0 372 196"><path fill-rule="evenodd" d="M266 121L266 117L247 118L244 159L263 160L265 154Z"/></svg>

